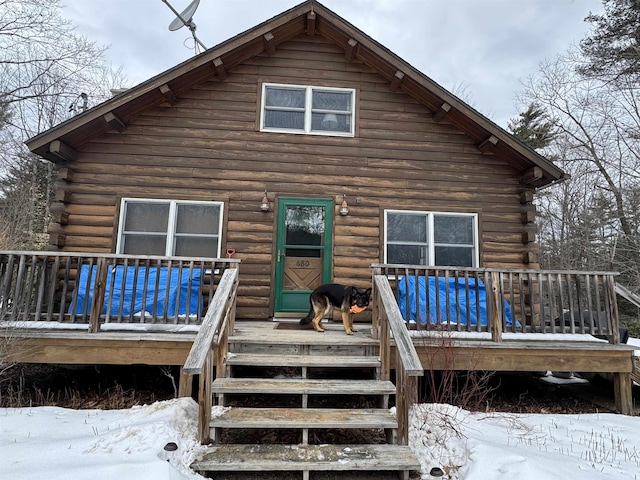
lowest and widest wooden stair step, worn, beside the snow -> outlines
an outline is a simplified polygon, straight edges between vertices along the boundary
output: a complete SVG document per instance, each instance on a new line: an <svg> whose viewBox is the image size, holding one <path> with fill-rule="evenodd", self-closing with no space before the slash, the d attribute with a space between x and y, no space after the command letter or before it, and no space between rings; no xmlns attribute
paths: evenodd
<svg viewBox="0 0 640 480"><path fill-rule="evenodd" d="M419 470L411 449L400 445L212 445L191 464L207 471Z"/></svg>

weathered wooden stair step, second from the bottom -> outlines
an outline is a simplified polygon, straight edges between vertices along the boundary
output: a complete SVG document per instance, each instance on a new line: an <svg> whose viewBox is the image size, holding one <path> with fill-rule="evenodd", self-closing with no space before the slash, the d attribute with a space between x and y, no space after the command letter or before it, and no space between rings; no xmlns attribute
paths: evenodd
<svg viewBox="0 0 640 480"><path fill-rule="evenodd" d="M211 419L212 428L398 428L386 409L240 408Z"/></svg>

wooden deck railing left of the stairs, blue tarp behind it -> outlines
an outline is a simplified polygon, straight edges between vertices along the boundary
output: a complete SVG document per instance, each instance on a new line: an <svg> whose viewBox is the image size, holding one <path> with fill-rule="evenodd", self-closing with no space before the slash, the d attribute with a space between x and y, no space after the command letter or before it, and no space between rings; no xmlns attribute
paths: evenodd
<svg viewBox="0 0 640 480"><path fill-rule="evenodd" d="M0 321L199 325L239 260L0 251Z"/></svg>

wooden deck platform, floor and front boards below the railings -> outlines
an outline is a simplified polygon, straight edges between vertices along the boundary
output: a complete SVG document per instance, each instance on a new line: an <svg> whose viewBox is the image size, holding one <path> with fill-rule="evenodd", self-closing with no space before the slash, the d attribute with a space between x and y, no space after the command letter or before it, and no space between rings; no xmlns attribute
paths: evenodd
<svg viewBox="0 0 640 480"><path fill-rule="evenodd" d="M313 339L318 345L360 344L372 341L371 326L358 324L353 336L344 333L341 323L327 322L324 334L297 329L295 322L282 322L288 328L277 328L279 322L269 320L237 320L235 337L247 342L277 345L304 344ZM69 330L18 329L11 334L16 346L12 361L22 363L60 364L146 364L183 365L195 333L152 333L109 331L88 333ZM598 341L568 341L548 336L544 340L503 340L450 338L441 335L413 338L422 366L435 370L498 371L634 371L633 347ZM268 347L265 347L268 349ZM395 347L392 347L395 348ZM445 355L443 351L448 353ZM392 358L395 358L392 355ZM393 365L395 368L395 365Z"/></svg>

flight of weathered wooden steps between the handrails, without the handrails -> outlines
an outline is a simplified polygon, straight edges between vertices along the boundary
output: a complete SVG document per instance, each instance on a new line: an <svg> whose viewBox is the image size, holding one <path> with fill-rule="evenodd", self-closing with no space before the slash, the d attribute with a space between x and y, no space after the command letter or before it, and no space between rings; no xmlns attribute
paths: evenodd
<svg viewBox="0 0 640 480"><path fill-rule="evenodd" d="M381 379L378 348L367 332L347 336L337 324L321 335L273 325L252 332L236 323L212 384L217 404L230 408L211 419L213 443L192 468L211 478L370 471L408 479L420 464L397 444L398 422L388 408L396 387Z"/></svg>

